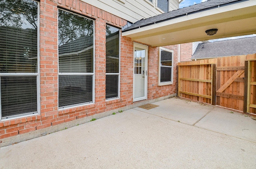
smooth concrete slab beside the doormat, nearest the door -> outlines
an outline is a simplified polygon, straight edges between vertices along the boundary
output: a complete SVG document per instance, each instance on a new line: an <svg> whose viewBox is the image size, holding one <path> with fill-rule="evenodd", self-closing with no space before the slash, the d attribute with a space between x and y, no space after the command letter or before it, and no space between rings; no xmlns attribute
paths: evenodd
<svg viewBox="0 0 256 169"><path fill-rule="evenodd" d="M134 109L167 118L169 120L193 125L214 108L214 106L209 104L199 104L197 102L191 102L190 100L179 98L169 98L159 102L154 102L153 104L156 104L159 107L152 108L150 110L139 107Z"/></svg>

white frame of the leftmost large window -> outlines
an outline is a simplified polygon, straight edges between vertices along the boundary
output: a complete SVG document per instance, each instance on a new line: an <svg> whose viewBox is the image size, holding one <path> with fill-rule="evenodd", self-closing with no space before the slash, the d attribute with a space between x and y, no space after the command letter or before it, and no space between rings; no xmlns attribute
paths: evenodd
<svg viewBox="0 0 256 169"><path fill-rule="evenodd" d="M2 104L1 104L1 78L0 78L0 121L11 120L15 118L28 117L32 115L40 114L40 2L38 0L32 0L37 2L37 73L0 73L1 76L36 76L36 101L37 101L37 111L28 112L23 114L16 114L8 116L7 118L2 118Z"/></svg>

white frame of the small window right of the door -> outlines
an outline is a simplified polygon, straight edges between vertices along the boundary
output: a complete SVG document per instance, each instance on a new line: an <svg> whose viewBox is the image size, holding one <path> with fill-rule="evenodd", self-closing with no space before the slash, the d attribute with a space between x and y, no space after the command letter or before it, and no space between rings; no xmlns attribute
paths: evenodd
<svg viewBox="0 0 256 169"><path fill-rule="evenodd" d="M172 53L172 66L171 66L171 81L168 82L161 82L161 67L170 67L170 66L161 66L161 50L168 51ZM158 57L158 86L164 86L164 85L172 85L173 84L173 50L166 49L164 47L159 47L159 57Z"/></svg>

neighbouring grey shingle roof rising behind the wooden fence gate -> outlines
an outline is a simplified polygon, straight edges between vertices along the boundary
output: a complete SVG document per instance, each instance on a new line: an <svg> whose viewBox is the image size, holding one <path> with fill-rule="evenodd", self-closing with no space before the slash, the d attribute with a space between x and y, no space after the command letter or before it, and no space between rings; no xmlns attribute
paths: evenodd
<svg viewBox="0 0 256 169"><path fill-rule="evenodd" d="M192 60L256 53L256 37L198 44Z"/></svg>

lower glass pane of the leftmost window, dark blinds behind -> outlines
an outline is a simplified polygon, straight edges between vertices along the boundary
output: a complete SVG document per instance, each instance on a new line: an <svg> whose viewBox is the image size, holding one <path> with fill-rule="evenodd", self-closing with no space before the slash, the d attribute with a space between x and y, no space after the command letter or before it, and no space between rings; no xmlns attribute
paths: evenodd
<svg viewBox="0 0 256 169"><path fill-rule="evenodd" d="M2 117L36 112L36 76L2 76L1 108Z"/></svg>

